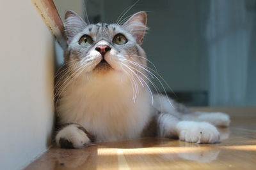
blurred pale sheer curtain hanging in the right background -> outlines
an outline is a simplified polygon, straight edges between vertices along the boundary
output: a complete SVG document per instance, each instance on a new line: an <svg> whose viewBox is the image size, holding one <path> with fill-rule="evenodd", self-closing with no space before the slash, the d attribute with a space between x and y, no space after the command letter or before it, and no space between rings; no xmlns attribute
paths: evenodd
<svg viewBox="0 0 256 170"><path fill-rule="evenodd" d="M245 105L252 16L243 0L208 2L209 104Z"/></svg>

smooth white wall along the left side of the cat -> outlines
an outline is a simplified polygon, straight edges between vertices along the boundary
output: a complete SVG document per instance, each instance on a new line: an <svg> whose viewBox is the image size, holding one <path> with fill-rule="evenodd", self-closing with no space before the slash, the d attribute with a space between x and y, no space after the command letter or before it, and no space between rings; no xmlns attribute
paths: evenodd
<svg viewBox="0 0 256 170"><path fill-rule="evenodd" d="M54 39L31 1L0 16L0 169L21 169L51 143Z"/></svg>

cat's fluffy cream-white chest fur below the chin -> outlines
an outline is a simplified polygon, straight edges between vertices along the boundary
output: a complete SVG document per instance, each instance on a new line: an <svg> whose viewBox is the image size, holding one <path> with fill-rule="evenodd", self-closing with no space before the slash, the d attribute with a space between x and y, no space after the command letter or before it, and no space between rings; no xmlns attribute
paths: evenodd
<svg viewBox="0 0 256 170"><path fill-rule="evenodd" d="M139 138L152 115L150 96L141 87L132 101L131 82L124 81L116 74L78 78L58 104L61 124L81 124L97 141Z"/></svg>

